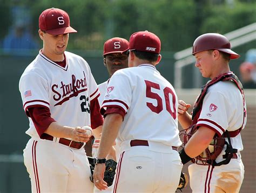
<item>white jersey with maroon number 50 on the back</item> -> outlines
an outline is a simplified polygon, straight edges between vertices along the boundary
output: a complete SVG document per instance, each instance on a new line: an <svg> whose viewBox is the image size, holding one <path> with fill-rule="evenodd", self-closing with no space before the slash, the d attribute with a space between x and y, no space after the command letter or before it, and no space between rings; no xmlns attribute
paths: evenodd
<svg viewBox="0 0 256 193"><path fill-rule="evenodd" d="M178 98L170 82L156 67L140 65L113 74L102 108L118 107L126 113L118 141L140 139L178 147L177 106Z"/></svg>

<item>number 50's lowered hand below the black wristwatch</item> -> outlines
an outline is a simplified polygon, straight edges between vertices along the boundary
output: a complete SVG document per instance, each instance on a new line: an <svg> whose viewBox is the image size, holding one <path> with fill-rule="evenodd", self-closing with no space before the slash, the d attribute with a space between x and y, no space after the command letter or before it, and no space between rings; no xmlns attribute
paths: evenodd
<svg viewBox="0 0 256 193"><path fill-rule="evenodd" d="M103 180L105 172L105 163L98 163L95 165L93 171L93 183L99 190L106 190L107 183Z"/></svg>

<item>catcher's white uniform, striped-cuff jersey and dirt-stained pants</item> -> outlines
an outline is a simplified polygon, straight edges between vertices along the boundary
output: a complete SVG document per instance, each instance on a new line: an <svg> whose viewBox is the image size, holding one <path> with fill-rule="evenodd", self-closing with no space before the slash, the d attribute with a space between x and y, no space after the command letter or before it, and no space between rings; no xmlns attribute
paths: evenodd
<svg viewBox="0 0 256 193"><path fill-rule="evenodd" d="M245 104L246 109L246 104ZM243 124L244 120L244 124ZM219 136L226 130L235 131L245 127L244 104L241 92L231 81L219 81L207 90L198 119L198 126L206 126ZM227 138L226 138L227 141ZM188 167L190 186L193 192L239 192L244 179L244 165L241 160L241 134L231 137L232 147L238 149L237 158L221 166L204 166L196 163ZM223 161L226 146L216 162ZM224 182L228 183L224 183Z"/></svg>

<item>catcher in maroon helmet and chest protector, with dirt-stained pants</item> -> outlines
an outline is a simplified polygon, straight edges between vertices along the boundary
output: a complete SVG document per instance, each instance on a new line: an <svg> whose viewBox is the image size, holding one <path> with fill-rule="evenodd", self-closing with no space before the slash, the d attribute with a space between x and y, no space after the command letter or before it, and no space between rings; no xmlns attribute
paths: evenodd
<svg viewBox="0 0 256 193"><path fill-rule="evenodd" d="M181 160L185 164L195 158L188 167L193 192L239 192L244 179L240 131L246 124L246 104L240 81L228 65L239 55L231 50L228 39L217 33L200 35L194 41L193 55L195 66L211 81L194 104L192 117L187 113L191 105L179 101L181 126L196 128L181 150ZM213 139L217 146L212 144ZM225 145L223 142L222 151L217 153L221 139ZM207 152L212 155L207 156Z"/></svg>

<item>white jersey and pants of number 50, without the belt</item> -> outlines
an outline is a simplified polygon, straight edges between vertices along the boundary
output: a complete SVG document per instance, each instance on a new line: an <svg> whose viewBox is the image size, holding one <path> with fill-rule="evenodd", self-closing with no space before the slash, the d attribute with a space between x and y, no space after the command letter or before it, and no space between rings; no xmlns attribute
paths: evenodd
<svg viewBox="0 0 256 193"><path fill-rule="evenodd" d="M172 85L152 65L120 69L110 78L102 105L111 107L125 114L113 192L175 192L183 165L171 147L181 145ZM148 145L133 146L131 140Z"/></svg>

